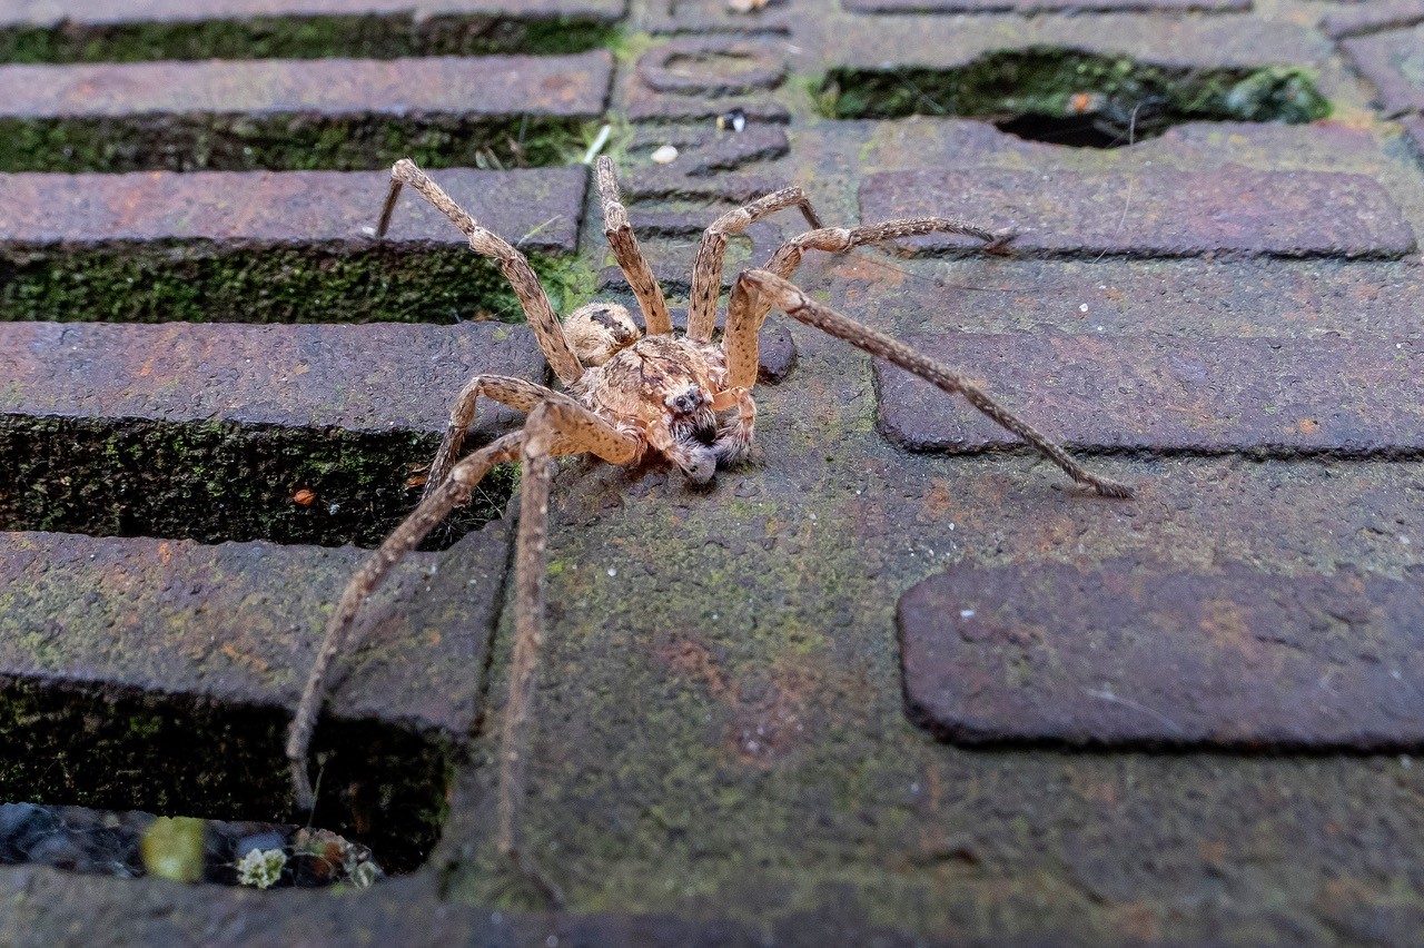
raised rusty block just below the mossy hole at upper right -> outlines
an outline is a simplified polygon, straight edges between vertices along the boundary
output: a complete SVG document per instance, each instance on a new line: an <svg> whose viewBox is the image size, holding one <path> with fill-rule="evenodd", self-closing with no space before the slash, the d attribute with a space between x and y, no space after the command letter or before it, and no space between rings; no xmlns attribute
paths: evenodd
<svg viewBox="0 0 1424 948"><path fill-rule="evenodd" d="M1122 214L1132 188L1131 214ZM1015 228L1020 253L1098 256L1373 256L1415 248L1414 232L1386 191L1363 175L1212 172L906 171L869 175L866 222L920 215ZM910 252L961 248L956 236L910 238Z"/></svg>

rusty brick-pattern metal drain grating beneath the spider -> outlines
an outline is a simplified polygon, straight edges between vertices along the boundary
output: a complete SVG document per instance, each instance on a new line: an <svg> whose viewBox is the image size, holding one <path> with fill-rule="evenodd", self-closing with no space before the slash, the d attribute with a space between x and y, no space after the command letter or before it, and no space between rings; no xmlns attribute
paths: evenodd
<svg viewBox="0 0 1424 948"><path fill-rule="evenodd" d="M1424 4L733 6L0 0L0 801L46 804L0 811L0 944L1424 935ZM567 912L493 841L511 473L373 598L318 730L316 821L390 878L40 846L70 804L66 840L292 820L330 604L464 380L550 380L437 214L373 238L386 169L560 312L628 302L604 124L675 320L701 229L786 184L1015 228L796 279L1138 497L773 316L752 463L560 467L525 813Z"/></svg>

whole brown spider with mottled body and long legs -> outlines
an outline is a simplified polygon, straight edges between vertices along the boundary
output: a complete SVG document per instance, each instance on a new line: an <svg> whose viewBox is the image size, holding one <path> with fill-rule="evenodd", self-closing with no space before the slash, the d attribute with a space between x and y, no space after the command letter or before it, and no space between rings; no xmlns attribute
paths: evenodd
<svg viewBox="0 0 1424 948"><path fill-rule="evenodd" d="M1126 485L1079 467L1062 448L954 372L806 297L787 282L807 249L839 252L938 231L978 238L985 242L985 249L995 251L1012 238L1011 232L994 233L947 218L887 221L849 229L822 228L805 192L800 188L786 188L722 215L706 229L693 263L688 332L679 337L672 332L662 290L628 223L612 162L600 158L597 178L604 232L638 299L646 326L644 335L638 332L628 310L617 303L590 303L560 325L534 270L518 251L476 223L413 162L396 162L390 178L377 236L386 233L403 185L410 185L444 212L470 239L470 246L477 253L498 260L524 307L540 349L567 394L521 379L476 376L456 399L450 427L430 467L424 498L346 585L306 680L286 743L296 801L302 809L309 810L315 803L306 754L326 697L326 673L332 659L343 649L362 602L436 524L453 508L468 502L476 484L490 468L523 460L515 548L514 660L500 743L498 847L551 901L558 901L557 890L521 857L517 843L518 804L524 796L524 730L544 625L544 547L548 538L553 458L590 453L612 464L627 465L635 464L651 450L669 460L695 484L712 480L718 467L736 463L752 444L756 404L750 389L756 384L758 333L773 307L893 362L950 394L963 394L975 409L1042 451L1075 481L1091 485L1099 494L1132 495ZM728 235L739 233L753 221L792 206L800 209L813 229L783 243L763 269L745 270L736 278L728 305L726 332L721 343L713 343ZM456 463L480 396L527 411L528 418L523 430L496 438Z"/></svg>

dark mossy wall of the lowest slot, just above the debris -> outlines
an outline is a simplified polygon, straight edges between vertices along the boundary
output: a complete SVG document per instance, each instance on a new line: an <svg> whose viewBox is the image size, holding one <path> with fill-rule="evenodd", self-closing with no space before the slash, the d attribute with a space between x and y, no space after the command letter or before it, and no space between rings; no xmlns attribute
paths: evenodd
<svg viewBox="0 0 1424 948"><path fill-rule="evenodd" d="M0 799L209 820L306 823L292 809L276 709L0 679ZM424 861L446 813L453 747L373 722L323 722L320 826L387 871ZM359 826L357 826L359 824Z"/></svg>

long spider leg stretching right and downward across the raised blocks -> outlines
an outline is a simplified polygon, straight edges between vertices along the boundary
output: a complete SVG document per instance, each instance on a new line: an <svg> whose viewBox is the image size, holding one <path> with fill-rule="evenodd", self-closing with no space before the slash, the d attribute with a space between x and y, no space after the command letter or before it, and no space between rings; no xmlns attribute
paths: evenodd
<svg viewBox="0 0 1424 948"><path fill-rule="evenodd" d="M1067 451L1034 428L1034 426L1015 416L958 373L933 359L921 356L884 333L863 326L847 316L842 316L829 306L822 306L770 270L745 270L736 278L736 283L732 286L732 302L728 307L726 337L723 342L726 346L729 386L750 386L756 381L758 313L766 303L782 310L792 319L803 322L807 326L815 326L837 339L844 339L850 344L869 352L871 356L879 356L886 362L894 363L948 394L964 396L970 404L988 416L995 424L1002 426L1038 448L1054 464L1061 467L1068 477L1079 484L1088 484L1098 494L1104 497L1132 497L1131 487L1088 471L1072 460Z"/></svg>

